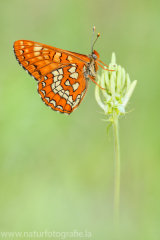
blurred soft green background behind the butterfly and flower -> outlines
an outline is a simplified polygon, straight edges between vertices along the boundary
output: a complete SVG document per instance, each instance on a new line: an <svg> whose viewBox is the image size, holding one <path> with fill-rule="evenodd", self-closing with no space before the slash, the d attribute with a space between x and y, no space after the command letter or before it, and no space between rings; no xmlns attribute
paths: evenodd
<svg viewBox="0 0 160 240"><path fill-rule="evenodd" d="M128 108L134 111L120 119L119 233L113 227L113 131L109 141L95 85L74 113L58 114L43 104L12 48L27 39L89 54L93 26L101 33L95 45L101 60L108 64L114 51L138 80ZM159 26L154 0L0 1L0 231L160 238Z"/></svg>

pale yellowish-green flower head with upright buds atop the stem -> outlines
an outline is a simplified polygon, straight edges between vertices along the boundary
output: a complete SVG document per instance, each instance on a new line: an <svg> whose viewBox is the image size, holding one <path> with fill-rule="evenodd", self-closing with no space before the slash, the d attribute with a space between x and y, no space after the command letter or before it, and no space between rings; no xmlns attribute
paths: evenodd
<svg viewBox="0 0 160 240"><path fill-rule="evenodd" d="M113 122L113 110L116 110L117 116L125 114L125 108L137 84L137 80L132 83L129 74L125 72L124 68L116 64L115 53L112 53L109 70L102 70L101 77L98 76L98 84L105 90L101 90L103 101L100 97L100 88L96 85L95 97L99 106L104 110L106 115L111 115L108 119Z"/></svg>

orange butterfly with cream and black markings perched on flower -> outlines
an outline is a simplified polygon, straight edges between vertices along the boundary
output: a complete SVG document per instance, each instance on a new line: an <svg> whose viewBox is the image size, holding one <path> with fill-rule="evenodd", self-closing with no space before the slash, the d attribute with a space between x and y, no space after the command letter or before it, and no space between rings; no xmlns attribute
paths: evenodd
<svg viewBox="0 0 160 240"><path fill-rule="evenodd" d="M93 36L94 31L95 27ZM37 90L44 103L66 114L79 106L89 80L96 83L98 65L103 62L92 46L91 49L92 53L87 56L29 40L18 40L13 45L19 64L38 81Z"/></svg>

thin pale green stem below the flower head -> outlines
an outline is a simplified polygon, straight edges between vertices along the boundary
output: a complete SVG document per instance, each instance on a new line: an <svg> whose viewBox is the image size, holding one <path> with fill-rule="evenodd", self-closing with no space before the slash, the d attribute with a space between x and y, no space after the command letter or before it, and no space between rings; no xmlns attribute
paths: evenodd
<svg viewBox="0 0 160 240"><path fill-rule="evenodd" d="M113 110L113 133L114 133L114 151L115 151L115 187L114 187L114 220L116 227L119 226L119 195L120 195L120 145L118 116L116 110Z"/></svg>

